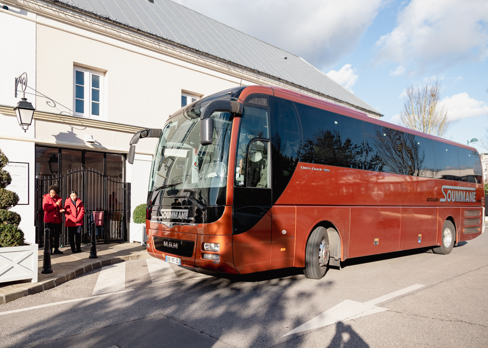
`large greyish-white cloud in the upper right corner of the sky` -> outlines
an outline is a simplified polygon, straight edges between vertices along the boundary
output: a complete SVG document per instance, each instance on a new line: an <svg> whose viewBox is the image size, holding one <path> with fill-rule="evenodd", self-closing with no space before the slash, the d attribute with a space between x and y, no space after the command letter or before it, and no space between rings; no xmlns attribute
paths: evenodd
<svg viewBox="0 0 488 348"><path fill-rule="evenodd" d="M376 61L403 64L407 70L450 66L488 56L487 0L411 0L397 25L376 42Z"/></svg>

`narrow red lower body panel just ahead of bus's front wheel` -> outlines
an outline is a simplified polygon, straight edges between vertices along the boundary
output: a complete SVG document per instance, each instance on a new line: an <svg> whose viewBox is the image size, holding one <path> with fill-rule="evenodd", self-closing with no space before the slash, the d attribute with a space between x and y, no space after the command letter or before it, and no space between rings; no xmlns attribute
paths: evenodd
<svg viewBox="0 0 488 348"><path fill-rule="evenodd" d="M296 207L277 205L272 208L271 267L293 267L295 260Z"/></svg>

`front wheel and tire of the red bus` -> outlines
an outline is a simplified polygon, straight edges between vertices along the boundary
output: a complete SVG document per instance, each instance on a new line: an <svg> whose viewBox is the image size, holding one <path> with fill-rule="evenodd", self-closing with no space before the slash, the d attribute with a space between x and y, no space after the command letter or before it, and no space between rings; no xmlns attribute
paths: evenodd
<svg viewBox="0 0 488 348"><path fill-rule="evenodd" d="M305 269L303 270L305 276L311 279L322 278L327 271L329 257L329 235L324 227L317 227L307 242Z"/></svg>

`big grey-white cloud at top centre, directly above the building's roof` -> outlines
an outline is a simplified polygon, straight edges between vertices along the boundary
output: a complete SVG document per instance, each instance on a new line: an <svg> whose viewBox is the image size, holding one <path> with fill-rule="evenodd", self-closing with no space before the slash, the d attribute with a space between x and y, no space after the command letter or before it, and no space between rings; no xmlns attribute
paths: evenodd
<svg viewBox="0 0 488 348"><path fill-rule="evenodd" d="M175 1L325 69L356 48L389 0Z"/></svg>

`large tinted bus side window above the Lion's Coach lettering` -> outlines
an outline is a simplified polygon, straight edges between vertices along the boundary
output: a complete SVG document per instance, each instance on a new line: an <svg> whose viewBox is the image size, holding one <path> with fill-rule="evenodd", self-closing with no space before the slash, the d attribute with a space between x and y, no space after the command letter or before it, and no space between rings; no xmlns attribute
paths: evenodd
<svg viewBox="0 0 488 348"><path fill-rule="evenodd" d="M303 162L366 169L363 121L295 105L303 127Z"/></svg>

